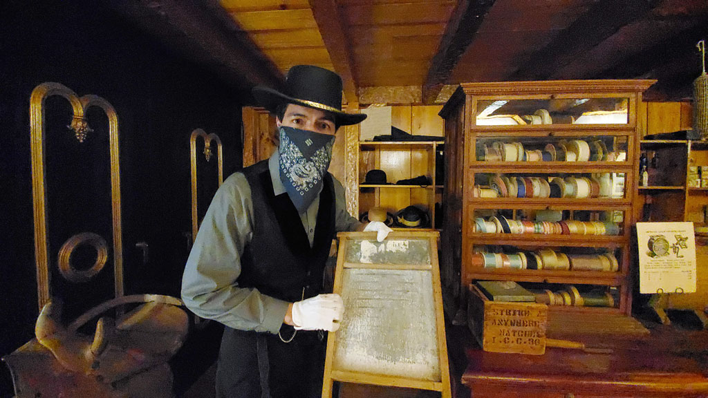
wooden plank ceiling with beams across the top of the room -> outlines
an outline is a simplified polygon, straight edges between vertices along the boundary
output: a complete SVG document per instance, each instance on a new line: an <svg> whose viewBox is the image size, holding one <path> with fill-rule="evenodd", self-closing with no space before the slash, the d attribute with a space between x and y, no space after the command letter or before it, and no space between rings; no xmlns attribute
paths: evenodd
<svg viewBox="0 0 708 398"><path fill-rule="evenodd" d="M445 101L467 81L618 78L658 79L648 98L680 100L701 72L696 42L708 38L708 0L200 1L265 59L252 68L258 79L270 66L282 81L292 65L319 65L343 77L354 104L395 92Z"/></svg>

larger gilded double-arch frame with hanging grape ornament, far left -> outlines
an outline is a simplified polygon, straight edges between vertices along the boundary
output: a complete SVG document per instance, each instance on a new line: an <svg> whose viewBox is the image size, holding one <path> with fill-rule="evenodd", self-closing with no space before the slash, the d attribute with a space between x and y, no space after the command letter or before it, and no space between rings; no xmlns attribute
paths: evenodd
<svg viewBox="0 0 708 398"><path fill-rule="evenodd" d="M40 310L50 300L49 243L47 241L47 204L45 181L45 99L62 96L72 105L74 112L69 127L76 140L84 142L92 130L86 123L84 113L91 106L98 106L108 116L110 135L110 188L113 215L113 275L115 297L123 295L122 234L120 226L120 165L118 157L118 115L113 106L99 96L86 95L79 98L74 91L59 83L42 83L30 95L30 147L32 152L32 197L35 220L35 263L37 266L37 290ZM68 256L68 254L67 254Z"/></svg>

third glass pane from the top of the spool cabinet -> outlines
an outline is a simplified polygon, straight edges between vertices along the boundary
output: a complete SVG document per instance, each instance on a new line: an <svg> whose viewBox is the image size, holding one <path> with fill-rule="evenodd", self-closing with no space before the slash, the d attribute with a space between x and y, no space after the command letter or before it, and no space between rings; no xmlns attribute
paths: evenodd
<svg viewBox="0 0 708 398"><path fill-rule="evenodd" d="M472 198L621 199L624 173L475 173Z"/></svg>

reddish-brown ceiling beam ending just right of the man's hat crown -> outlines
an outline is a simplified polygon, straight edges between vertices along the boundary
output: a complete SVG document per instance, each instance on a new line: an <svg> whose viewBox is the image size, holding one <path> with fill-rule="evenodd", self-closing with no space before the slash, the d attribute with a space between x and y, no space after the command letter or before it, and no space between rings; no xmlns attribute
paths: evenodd
<svg viewBox="0 0 708 398"><path fill-rule="evenodd" d="M347 37L339 8L334 0L309 0L312 15L319 27L324 46L332 59L334 70L341 76L347 103L358 103L357 80L353 69L351 42Z"/></svg>

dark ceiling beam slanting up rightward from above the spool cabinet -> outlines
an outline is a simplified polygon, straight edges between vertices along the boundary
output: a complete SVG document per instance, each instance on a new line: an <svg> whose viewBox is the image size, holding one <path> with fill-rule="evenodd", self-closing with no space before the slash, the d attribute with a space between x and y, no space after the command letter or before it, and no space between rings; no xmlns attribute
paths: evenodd
<svg viewBox="0 0 708 398"><path fill-rule="evenodd" d="M615 35L624 25L644 18L656 0L600 0L562 30L542 50L520 59L506 80L547 80L556 71Z"/></svg>

